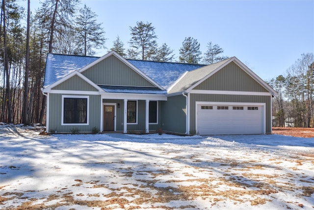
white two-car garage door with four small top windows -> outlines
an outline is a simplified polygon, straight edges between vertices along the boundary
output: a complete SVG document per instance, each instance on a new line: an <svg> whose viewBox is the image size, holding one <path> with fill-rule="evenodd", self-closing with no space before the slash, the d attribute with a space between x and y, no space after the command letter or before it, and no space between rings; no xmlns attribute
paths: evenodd
<svg viewBox="0 0 314 210"><path fill-rule="evenodd" d="M263 134L263 106L197 105L200 135Z"/></svg>

